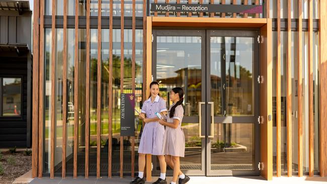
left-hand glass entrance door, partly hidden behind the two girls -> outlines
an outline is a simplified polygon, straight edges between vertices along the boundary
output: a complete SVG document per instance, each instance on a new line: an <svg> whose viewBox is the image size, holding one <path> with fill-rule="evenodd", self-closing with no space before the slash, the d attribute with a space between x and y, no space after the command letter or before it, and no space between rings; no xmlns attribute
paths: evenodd
<svg viewBox="0 0 327 184"><path fill-rule="evenodd" d="M153 80L160 83L160 96L170 107L171 89L180 86L185 91L185 157L181 158L181 170L188 175L204 175L205 30L153 30L152 34L152 73ZM159 175L159 163L154 156L152 163L153 175ZM167 168L167 174L172 175L173 170Z"/></svg>

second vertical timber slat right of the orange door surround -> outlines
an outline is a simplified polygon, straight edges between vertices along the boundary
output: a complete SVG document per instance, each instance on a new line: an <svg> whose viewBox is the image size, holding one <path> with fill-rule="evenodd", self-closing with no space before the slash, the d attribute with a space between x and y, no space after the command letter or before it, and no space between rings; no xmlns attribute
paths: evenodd
<svg viewBox="0 0 327 184"><path fill-rule="evenodd" d="M292 176L292 34L291 0L287 1L287 62L286 62L286 129L287 176Z"/></svg>

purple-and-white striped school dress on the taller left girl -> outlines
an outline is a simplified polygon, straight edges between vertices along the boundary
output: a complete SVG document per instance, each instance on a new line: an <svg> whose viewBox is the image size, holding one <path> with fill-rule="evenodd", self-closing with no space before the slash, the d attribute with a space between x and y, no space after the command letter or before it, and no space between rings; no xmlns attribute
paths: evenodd
<svg viewBox="0 0 327 184"><path fill-rule="evenodd" d="M141 112L146 114L147 118L155 118L156 112L161 113L167 111L166 101L156 96L155 100L151 102L151 98L143 103ZM165 127L159 122L145 123L143 133L138 147L138 153L163 155L162 144L163 136L165 135Z"/></svg>

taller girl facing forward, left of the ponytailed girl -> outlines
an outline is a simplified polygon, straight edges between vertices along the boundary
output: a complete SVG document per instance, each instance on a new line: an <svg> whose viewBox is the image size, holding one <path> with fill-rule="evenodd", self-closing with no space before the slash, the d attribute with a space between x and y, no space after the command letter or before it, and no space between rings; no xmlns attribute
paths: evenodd
<svg viewBox="0 0 327 184"><path fill-rule="evenodd" d="M130 184L145 183L143 171L145 167L145 155L157 155L160 163L160 177L154 184L167 184L165 156L163 154L163 136L165 127L158 123L159 118L155 113L166 116L166 101L159 97L159 83L150 83L150 97L143 103L139 119L143 120L143 133L138 147L138 176ZM146 116L146 117L145 117Z"/></svg>

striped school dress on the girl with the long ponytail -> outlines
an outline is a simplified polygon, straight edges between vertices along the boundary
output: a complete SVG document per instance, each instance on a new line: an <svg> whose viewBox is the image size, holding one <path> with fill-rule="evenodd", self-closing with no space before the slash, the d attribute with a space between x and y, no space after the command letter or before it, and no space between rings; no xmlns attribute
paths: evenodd
<svg viewBox="0 0 327 184"><path fill-rule="evenodd" d="M173 106L174 104L170 107L169 111ZM179 120L180 123L176 129L166 126L165 136L163 137L163 153L166 155L180 157L184 157L185 155L185 137L181 127L183 116L184 109L182 105L176 107L173 118L170 118L169 114L167 116L167 123L173 123L174 119Z"/></svg>

